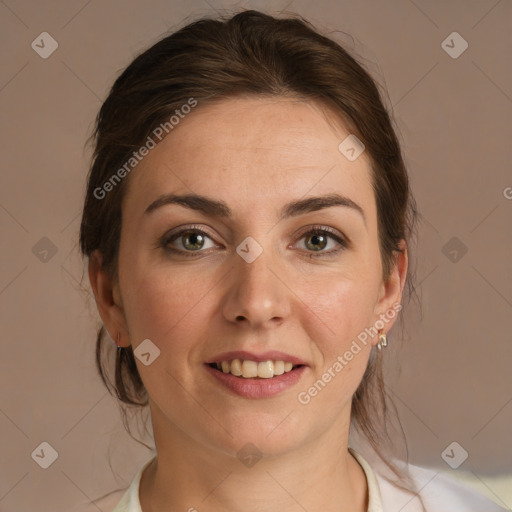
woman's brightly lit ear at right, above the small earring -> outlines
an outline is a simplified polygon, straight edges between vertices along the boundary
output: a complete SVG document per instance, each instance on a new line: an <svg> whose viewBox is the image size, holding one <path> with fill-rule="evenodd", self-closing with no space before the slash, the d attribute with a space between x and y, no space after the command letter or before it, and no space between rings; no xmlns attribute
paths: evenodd
<svg viewBox="0 0 512 512"><path fill-rule="evenodd" d="M391 268L387 281L383 282L379 292L379 298L375 304L375 322L381 320L385 327L382 332L387 333L397 319L398 305L402 301L402 292L405 286L407 276L407 267L409 265L409 257L407 252L407 244L405 240L401 240L399 248L402 252L395 252L395 261ZM386 315L388 313L388 315Z"/></svg>

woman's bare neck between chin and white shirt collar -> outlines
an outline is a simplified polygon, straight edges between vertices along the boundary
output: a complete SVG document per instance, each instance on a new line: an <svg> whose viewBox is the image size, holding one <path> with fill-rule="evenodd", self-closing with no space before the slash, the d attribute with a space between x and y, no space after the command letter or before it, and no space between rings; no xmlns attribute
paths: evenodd
<svg viewBox="0 0 512 512"><path fill-rule="evenodd" d="M348 429L285 454L264 454L252 466L165 430L162 437L154 429L158 456L142 475L143 512L367 511L366 477L348 451Z"/></svg>

